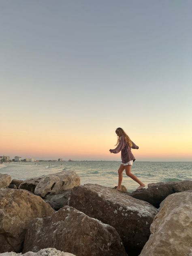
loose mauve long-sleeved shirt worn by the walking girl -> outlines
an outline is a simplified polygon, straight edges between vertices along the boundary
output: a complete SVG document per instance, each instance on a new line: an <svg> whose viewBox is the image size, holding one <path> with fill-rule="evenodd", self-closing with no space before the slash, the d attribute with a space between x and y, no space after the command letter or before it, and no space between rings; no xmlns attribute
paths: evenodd
<svg viewBox="0 0 192 256"><path fill-rule="evenodd" d="M132 149L139 149L139 147L137 145L135 145L133 142L132 142ZM131 152L131 148L130 148L130 145L128 143L126 143L125 139L124 139L124 136L121 136L120 138L120 141L119 141L119 144L117 145L117 147L115 149L110 149L109 151L111 153L114 153L114 154L117 154L119 153L120 151L121 152L121 157L122 157L122 163L127 163L131 160L133 160L133 162L135 161L135 158Z"/></svg>

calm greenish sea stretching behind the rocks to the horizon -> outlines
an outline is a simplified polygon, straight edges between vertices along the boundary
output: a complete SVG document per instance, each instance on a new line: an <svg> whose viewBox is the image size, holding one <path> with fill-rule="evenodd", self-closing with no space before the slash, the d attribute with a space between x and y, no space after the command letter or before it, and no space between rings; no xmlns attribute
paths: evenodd
<svg viewBox="0 0 192 256"><path fill-rule="evenodd" d="M12 179L28 179L57 173L59 171L75 171L81 178L81 185L86 183L102 186L117 186L117 170L121 162L117 161L74 161L74 162L17 162L0 164L0 173L11 175ZM160 181L192 180L192 162L137 162L132 166L132 173L145 185ZM125 172L122 185L128 191L135 190L139 185Z"/></svg>

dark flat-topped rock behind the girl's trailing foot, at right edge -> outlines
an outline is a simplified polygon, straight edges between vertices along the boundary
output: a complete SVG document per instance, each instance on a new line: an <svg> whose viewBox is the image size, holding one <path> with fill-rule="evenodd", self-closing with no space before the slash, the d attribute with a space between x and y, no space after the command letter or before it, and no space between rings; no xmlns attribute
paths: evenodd
<svg viewBox="0 0 192 256"><path fill-rule="evenodd" d="M160 203L170 194L186 190L192 190L192 180L149 183L148 188L136 190L130 196L146 201L158 208Z"/></svg>

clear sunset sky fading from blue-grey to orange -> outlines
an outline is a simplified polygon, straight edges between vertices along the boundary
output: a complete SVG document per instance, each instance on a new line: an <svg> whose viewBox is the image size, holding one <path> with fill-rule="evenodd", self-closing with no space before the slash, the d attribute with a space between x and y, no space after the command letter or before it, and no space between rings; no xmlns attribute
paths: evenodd
<svg viewBox="0 0 192 256"><path fill-rule="evenodd" d="M192 161L192 0L0 0L0 155Z"/></svg>

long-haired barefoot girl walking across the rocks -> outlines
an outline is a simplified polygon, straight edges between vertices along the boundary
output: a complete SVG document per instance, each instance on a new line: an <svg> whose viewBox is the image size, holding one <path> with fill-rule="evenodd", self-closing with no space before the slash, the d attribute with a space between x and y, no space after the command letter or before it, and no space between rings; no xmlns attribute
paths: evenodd
<svg viewBox="0 0 192 256"><path fill-rule="evenodd" d="M131 173L131 166L133 162L135 161L135 158L131 152L132 149L139 149L137 145L135 145L128 135L124 132L122 128L117 128L116 129L116 134L117 134L117 147L115 149L109 149L111 153L117 154L121 151L121 158L122 158L122 164L119 166L118 174L119 174L119 181L118 181L118 186L117 190L121 190L121 184L122 184L122 179L123 179L123 171L126 171L126 175L132 178L134 181L139 183L139 187L137 190L144 188L145 184L142 183L135 175ZM116 146L115 145L115 146Z"/></svg>

